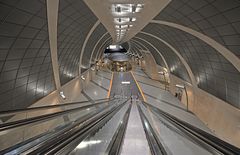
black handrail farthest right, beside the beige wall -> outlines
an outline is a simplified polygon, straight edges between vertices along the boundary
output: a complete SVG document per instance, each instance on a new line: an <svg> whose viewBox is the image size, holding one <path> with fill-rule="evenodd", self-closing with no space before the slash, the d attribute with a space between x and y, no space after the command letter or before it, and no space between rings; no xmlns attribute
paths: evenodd
<svg viewBox="0 0 240 155"><path fill-rule="evenodd" d="M179 118L162 111L161 109L143 102L143 106L150 109L150 111L155 114L157 117L162 117L172 125L177 127L182 133L190 137L193 141L203 146L212 153L217 154L227 154L227 155L239 155L240 149L236 146L233 146L220 138L209 134L185 121L180 120Z"/></svg>

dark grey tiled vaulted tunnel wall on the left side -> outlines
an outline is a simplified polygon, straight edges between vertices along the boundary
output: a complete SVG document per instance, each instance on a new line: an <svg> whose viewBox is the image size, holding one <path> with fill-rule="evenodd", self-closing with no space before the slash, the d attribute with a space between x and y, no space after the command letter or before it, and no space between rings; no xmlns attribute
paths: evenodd
<svg viewBox="0 0 240 155"><path fill-rule="evenodd" d="M56 91L47 7L45 0L0 2L1 111L26 108ZM78 0L59 0L57 18L57 64L63 86L78 77L83 43L97 18L83 1ZM83 54L84 65L90 65L92 47L105 32L99 24L90 34Z"/></svg>

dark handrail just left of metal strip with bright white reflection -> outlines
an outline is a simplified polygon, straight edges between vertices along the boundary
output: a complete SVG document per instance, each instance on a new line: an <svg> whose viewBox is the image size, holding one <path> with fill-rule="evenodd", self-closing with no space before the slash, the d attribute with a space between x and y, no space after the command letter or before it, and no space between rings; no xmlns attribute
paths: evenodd
<svg viewBox="0 0 240 155"><path fill-rule="evenodd" d="M42 146L28 152L30 155L35 154L68 154L70 150L75 148L87 135L97 131L103 126L112 116L123 107L128 100L119 105L114 105L106 112L100 112L94 118L83 122L82 125L77 125L64 133L63 135L51 139ZM103 122L102 122L103 121ZM60 152L60 153L59 153Z"/></svg>

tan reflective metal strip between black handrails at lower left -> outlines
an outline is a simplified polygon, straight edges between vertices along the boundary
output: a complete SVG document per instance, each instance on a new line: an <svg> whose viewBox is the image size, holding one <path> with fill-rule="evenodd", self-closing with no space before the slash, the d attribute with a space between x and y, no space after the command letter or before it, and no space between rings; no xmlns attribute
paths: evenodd
<svg viewBox="0 0 240 155"><path fill-rule="evenodd" d="M92 103L89 103L89 105L91 105ZM76 105L67 107L65 108L65 110L67 109L80 109L81 105L78 105L78 107ZM72 124L73 122L86 117L86 115L92 114L94 112L96 112L99 109L103 109L104 107L106 107L105 103L99 104L97 106L92 106L89 108L83 108L82 110L77 110L71 113L67 113L65 115L59 115L53 118L46 119L46 120L41 120L38 122L33 122L31 124L25 124L13 129L9 129L9 130L4 130L0 132L0 150L4 150L10 146L14 146L18 143L21 142L25 142L31 138L35 138L37 136L44 136L44 135L49 135L49 136L53 136L54 134L56 134L56 132L60 131L59 129L62 127L68 127L67 125ZM62 109L63 110L63 109ZM55 113L58 112L55 109L54 110L50 110L51 113ZM42 111L40 111L41 113ZM31 114L31 115L35 115L36 114L39 115L39 113L35 114ZM28 117L30 118L31 115L29 114ZM20 116L19 116L20 117ZM18 117L18 118L19 118ZM10 122L12 123L12 122ZM48 137L49 137L48 136ZM11 137L11 139L9 139L9 137ZM32 141L32 144L34 144L35 142L38 143L39 138L35 139ZM25 146L23 146L25 147ZM15 151L19 151L22 150L21 148L15 150ZM0 153L1 154L1 153Z"/></svg>

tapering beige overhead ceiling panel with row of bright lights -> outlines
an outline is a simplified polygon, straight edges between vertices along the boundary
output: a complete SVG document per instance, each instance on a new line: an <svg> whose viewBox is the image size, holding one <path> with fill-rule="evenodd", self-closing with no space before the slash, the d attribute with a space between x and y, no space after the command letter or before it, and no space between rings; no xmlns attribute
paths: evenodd
<svg viewBox="0 0 240 155"><path fill-rule="evenodd" d="M85 0L85 2L111 34L113 42L120 43L137 34L170 0ZM127 26L124 28L127 32L124 32L121 38L117 37L116 31L121 28L116 27L119 25L122 28Z"/></svg>

